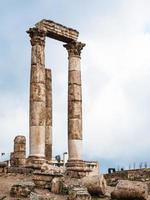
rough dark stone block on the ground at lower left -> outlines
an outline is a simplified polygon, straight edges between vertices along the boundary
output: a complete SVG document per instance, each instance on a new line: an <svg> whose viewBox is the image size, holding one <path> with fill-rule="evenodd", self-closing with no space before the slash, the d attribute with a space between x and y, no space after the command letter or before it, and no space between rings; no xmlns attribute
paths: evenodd
<svg viewBox="0 0 150 200"><path fill-rule="evenodd" d="M22 182L11 187L11 197L28 197L34 191L35 185L32 182Z"/></svg>

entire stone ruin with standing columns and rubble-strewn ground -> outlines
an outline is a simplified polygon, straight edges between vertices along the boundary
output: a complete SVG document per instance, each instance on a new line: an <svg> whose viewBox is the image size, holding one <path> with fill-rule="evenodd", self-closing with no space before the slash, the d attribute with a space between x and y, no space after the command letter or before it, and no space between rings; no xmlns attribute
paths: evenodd
<svg viewBox="0 0 150 200"><path fill-rule="evenodd" d="M4 182L0 199L91 200L95 196L148 200L149 169L116 172L109 168L109 174L103 176L97 161L83 159L80 61L85 44L78 41L79 32L42 20L27 33L32 48L29 156L26 158L26 138L16 136L10 160L0 162L0 181ZM63 160L59 155L54 160L52 153L52 71L45 66L46 37L63 42L68 52L68 151L63 153Z"/></svg>

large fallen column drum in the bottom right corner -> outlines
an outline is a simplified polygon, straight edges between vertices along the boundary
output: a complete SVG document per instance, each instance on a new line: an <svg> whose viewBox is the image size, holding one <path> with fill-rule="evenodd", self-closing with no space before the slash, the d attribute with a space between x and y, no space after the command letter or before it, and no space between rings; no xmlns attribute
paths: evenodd
<svg viewBox="0 0 150 200"><path fill-rule="evenodd" d="M138 181L120 180L115 190L111 193L112 199L147 200L147 184Z"/></svg>

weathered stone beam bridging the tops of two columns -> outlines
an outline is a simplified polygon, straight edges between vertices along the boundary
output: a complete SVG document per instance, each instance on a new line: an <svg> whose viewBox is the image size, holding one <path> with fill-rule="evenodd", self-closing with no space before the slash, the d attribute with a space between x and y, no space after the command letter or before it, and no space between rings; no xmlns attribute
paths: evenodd
<svg viewBox="0 0 150 200"><path fill-rule="evenodd" d="M36 24L36 27L40 30L44 30L46 36L60 40L62 42L76 41L78 38L78 31L55 23L51 20L43 19Z"/></svg>

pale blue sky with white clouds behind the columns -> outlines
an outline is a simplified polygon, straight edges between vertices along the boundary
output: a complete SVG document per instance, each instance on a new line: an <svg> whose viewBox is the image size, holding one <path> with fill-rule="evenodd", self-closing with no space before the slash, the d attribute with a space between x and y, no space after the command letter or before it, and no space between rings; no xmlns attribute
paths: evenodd
<svg viewBox="0 0 150 200"><path fill-rule="evenodd" d="M0 152L28 138L31 46L26 30L51 19L80 32L84 158L102 171L150 166L150 1L1 0ZM67 150L67 52L46 40L53 73L53 154Z"/></svg>

